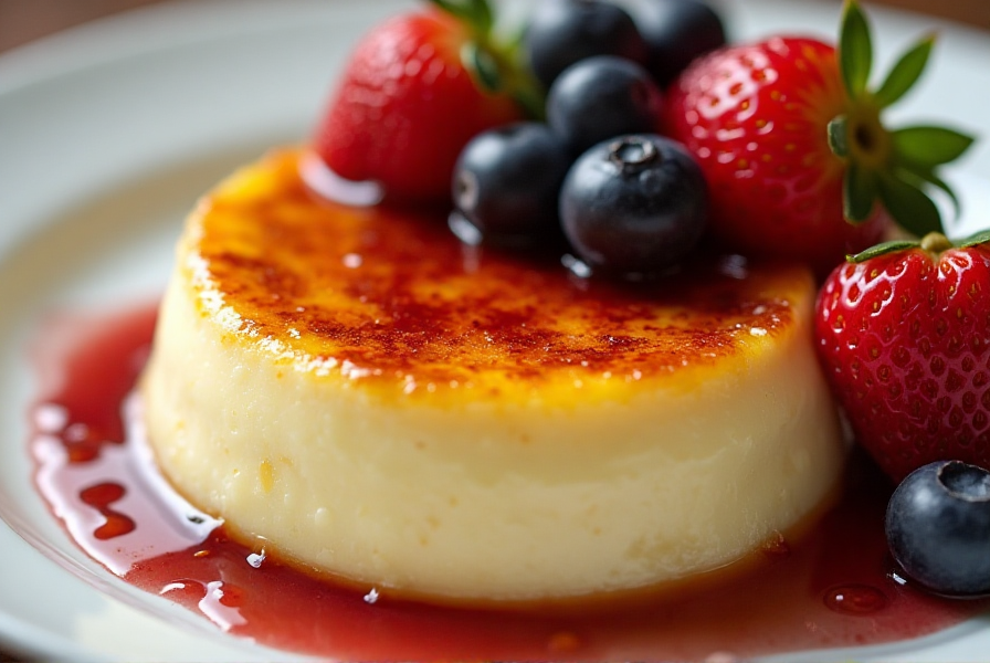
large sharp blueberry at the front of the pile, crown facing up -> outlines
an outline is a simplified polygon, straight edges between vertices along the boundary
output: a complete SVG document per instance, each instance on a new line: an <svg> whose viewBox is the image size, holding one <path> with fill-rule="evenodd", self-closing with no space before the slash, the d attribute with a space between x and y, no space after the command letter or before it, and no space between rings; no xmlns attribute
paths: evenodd
<svg viewBox="0 0 990 663"><path fill-rule="evenodd" d="M592 269L661 271L697 244L707 188L683 145L655 135L599 143L571 167L560 191L564 234Z"/></svg>

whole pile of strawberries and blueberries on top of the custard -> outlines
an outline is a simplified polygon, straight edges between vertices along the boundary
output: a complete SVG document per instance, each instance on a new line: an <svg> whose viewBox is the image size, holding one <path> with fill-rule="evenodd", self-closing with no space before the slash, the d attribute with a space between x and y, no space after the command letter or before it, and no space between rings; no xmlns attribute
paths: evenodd
<svg viewBox="0 0 990 663"><path fill-rule="evenodd" d="M495 25L488 0L432 0L377 28L348 63L315 151L392 203L452 198L462 239L556 248L564 235L599 273L661 272L707 236L823 277L878 242L891 218L918 236L941 229L925 189L952 196L937 169L971 139L884 127L931 40L870 88L870 31L855 2L838 48L792 36L726 46L701 0L629 11L546 0L518 38ZM630 140L662 149L631 168L614 156ZM578 191L592 181L568 176L579 165L613 181ZM619 190L635 194L605 193ZM656 199L671 196L691 200Z"/></svg>

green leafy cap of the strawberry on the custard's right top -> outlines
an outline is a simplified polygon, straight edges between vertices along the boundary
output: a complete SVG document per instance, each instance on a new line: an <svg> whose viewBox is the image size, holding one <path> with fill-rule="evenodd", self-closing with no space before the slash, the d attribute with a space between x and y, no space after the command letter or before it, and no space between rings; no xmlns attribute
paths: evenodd
<svg viewBox="0 0 990 663"><path fill-rule="evenodd" d="M973 143L960 131L929 125L888 130L882 113L918 81L935 36L910 46L894 64L880 87L867 87L873 65L873 43L866 17L855 0L846 0L839 38L839 69L849 98L846 113L829 123L829 146L845 161L843 211L851 223L873 215L880 202L894 221L924 236L941 232L941 215L929 198L931 187L944 191L956 213L959 200L938 175Z"/></svg>

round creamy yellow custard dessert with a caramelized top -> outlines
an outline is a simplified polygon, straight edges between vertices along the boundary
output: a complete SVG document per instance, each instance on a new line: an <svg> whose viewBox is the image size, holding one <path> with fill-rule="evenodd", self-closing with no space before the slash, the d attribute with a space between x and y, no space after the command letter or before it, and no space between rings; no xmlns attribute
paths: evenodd
<svg viewBox="0 0 990 663"><path fill-rule="evenodd" d="M200 201L141 380L162 472L239 536L380 591L576 599L726 566L832 494L803 267L582 280L320 199L303 158Z"/></svg>

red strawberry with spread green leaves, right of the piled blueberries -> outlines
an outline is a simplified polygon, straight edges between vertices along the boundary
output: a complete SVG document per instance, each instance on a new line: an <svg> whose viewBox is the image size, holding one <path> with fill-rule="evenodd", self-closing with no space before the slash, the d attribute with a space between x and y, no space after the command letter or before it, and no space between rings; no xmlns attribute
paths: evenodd
<svg viewBox="0 0 990 663"><path fill-rule="evenodd" d="M881 122L921 74L931 45L931 38L915 44L868 90L870 30L847 1L838 51L775 36L688 67L671 88L665 125L705 171L715 238L828 274L881 239L885 212L918 236L940 230L921 189L951 196L936 169L972 139L938 127L892 131Z"/></svg>

